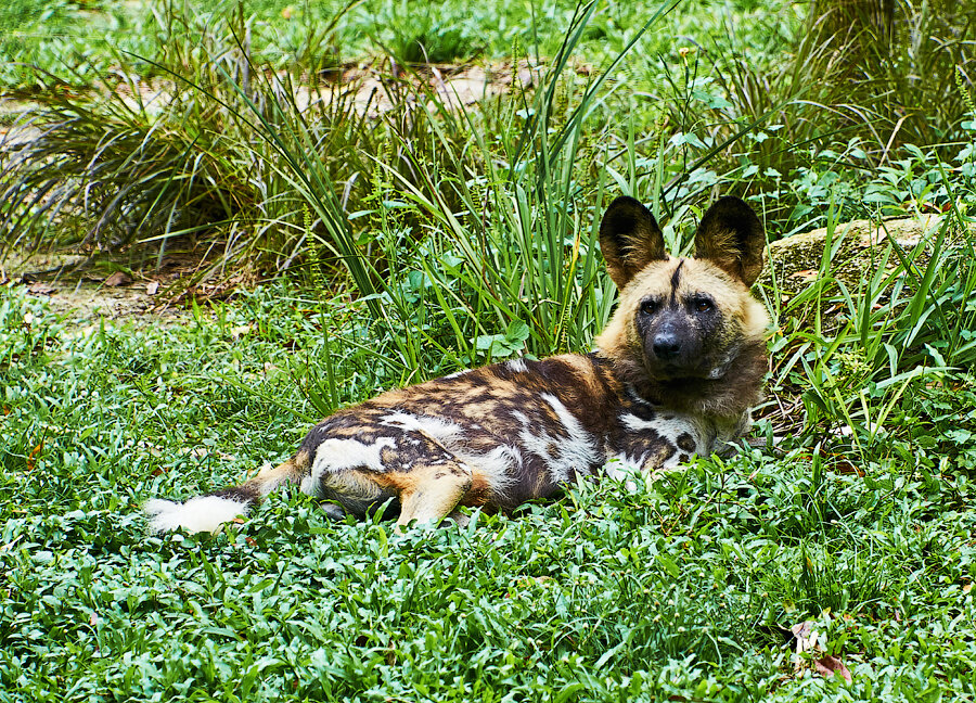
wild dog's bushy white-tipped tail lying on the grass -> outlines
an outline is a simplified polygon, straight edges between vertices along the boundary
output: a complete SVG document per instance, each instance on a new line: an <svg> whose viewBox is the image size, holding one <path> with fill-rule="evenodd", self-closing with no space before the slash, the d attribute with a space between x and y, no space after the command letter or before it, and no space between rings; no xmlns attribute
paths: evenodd
<svg viewBox="0 0 976 703"><path fill-rule="evenodd" d="M246 515L252 506L286 484L300 485L309 475L309 455L299 451L278 466L270 464L254 478L239 486L215 490L206 496L191 498L187 502L147 500L143 509L153 532L188 529L190 532L217 532L221 525Z"/></svg>

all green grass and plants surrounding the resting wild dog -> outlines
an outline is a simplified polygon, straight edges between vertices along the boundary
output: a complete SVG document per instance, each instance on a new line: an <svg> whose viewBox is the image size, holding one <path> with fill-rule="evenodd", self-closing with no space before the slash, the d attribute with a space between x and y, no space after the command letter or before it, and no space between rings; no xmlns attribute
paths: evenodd
<svg viewBox="0 0 976 703"><path fill-rule="evenodd" d="M178 281L174 316L132 319L0 286L0 701L974 700L966 10L904 10L892 44L913 53L851 77L821 72L847 44L805 44L810 18L773 4L637 24L630 4L510 3L474 28L414 4L152 5L141 48L105 55L165 80L163 104L98 72L34 85L39 129L0 152L8 252L121 248L149 259L138 278L196 245L224 254L201 277L266 280L227 302ZM321 18L290 35L288 8ZM370 12L400 21L349 29ZM522 47L484 29L510 20ZM463 110L390 63L384 111L313 99L323 56L409 66L423 33L543 69ZM901 80L919 66L934 79ZM892 86L924 125L874 110ZM799 285L759 287L770 400L735 457L465 529L396 536L285 495L216 537L146 533L146 498L284 459L339 405L587 349L613 306L595 213L631 193L680 248L712 191L772 237L829 231ZM930 213L852 280L835 266L848 219ZM797 655L805 622L818 647Z"/></svg>

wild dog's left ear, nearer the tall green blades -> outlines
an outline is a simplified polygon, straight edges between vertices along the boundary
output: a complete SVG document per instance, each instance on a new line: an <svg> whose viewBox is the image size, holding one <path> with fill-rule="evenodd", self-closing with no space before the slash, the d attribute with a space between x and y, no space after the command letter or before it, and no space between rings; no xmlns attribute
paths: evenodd
<svg viewBox="0 0 976 703"><path fill-rule="evenodd" d="M611 203L603 214L600 248L606 270L620 290L651 261L668 258L654 215L627 195Z"/></svg>

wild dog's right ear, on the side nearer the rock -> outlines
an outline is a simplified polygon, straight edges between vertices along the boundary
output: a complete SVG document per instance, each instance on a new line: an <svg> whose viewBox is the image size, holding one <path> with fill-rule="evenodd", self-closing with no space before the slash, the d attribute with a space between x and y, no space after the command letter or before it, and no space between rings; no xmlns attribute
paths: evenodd
<svg viewBox="0 0 976 703"><path fill-rule="evenodd" d="M752 286L762 270L766 231L753 208L732 195L708 208L695 232L695 258L708 259Z"/></svg>

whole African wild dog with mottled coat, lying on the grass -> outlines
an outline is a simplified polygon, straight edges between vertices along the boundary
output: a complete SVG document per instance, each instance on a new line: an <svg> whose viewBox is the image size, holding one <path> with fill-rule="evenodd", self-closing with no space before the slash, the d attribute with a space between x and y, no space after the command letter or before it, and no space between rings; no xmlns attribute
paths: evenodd
<svg viewBox="0 0 976 703"><path fill-rule="evenodd" d="M695 258L676 258L651 213L618 197L600 244L619 303L595 352L495 363L337 410L240 486L150 501L153 527L214 531L286 484L335 516L391 500L399 526L437 522L458 506L504 511L578 475L650 475L723 448L748 429L766 371L768 318L749 294L759 219L723 197L702 218Z"/></svg>

